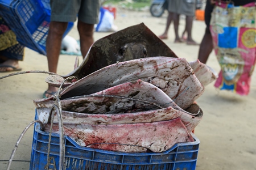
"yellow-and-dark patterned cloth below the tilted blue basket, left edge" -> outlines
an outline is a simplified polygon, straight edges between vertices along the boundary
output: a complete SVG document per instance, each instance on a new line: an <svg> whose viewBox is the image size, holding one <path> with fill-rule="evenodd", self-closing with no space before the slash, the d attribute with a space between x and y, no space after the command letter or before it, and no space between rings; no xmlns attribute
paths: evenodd
<svg viewBox="0 0 256 170"><path fill-rule="evenodd" d="M0 16L0 56L8 59L23 60L24 46L16 40L16 35L10 30L5 20Z"/></svg>

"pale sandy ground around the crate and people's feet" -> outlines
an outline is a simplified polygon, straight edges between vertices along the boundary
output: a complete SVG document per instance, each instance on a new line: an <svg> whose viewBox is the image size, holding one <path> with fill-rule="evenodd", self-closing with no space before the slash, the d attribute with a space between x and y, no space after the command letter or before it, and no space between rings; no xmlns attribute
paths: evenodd
<svg viewBox="0 0 256 170"><path fill-rule="evenodd" d="M163 33L167 13L153 18L149 11L135 12L118 9L114 24L118 30L144 23L156 35ZM184 29L184 17L180 20L180 34ZM195 20L193 38L200 42L204 33L204 22ZM69 35L79 39L77 28ZM95 32L95 40L109 35L109 32ZM174 29L171 25L169 39L164 42L177 54L188 61L195 61L199 46L174 44ZM152 47L154 48L154 47ZM65 75L73 70L76 56L61 55L58 74ZM82 57L80 57L80 63ZM208 65L220 70L214 53L210 54ZM20 66L25 70L48 70L47 58L26 48ZM255 71L254 71L255 72ZM0 76L7 73L0 73ZM47 89L44 82L47 74L31 73L10 76L0 80L0 169L6 169L7 161L19 135L35 117L34 99L41 98ZM203 120L195 129L200 139L197 170L202 169L256 169L256 73L253 74L251 91L248 96L239 96L228 91L216 90L209 84L197 103L203 109ZM33 128L28 129L14 156L11 169L29 169ZM18 161L19 160L19 161Z"/></svg>

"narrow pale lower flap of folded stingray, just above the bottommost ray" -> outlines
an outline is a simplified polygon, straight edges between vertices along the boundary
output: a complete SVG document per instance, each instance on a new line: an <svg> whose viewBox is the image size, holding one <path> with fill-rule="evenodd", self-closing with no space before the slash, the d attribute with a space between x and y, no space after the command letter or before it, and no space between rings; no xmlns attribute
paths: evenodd
<svg viewBox="0 0 256 170"><path fill-rule="evenodd" d="M43 124L48 124L49 112L44 112L46 108L37 109L38 119L43 120ZM151 111L142 111L136 113L119 113L119 114L88 114L88 113L77 113L61 111L63 117L63 124L88 124L88 125L110 125L110 124L135 124L135 123L146 123L146 122L157 122L167 121L179 117L187 130L191 132L200 123L203 112L198 105L192 104L187 109L191 113L191 109L196 116L188 114L186 111L182 112L172 107L163 109L155 109ZM199 114L198 114L199 113ZM55 113L53 124L58 124L59 120Z"/></svg>

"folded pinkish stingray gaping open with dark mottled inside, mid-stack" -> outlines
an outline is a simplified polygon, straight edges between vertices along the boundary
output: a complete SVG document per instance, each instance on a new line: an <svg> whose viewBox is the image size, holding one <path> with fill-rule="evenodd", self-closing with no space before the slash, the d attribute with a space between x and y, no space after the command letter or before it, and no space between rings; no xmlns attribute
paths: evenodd
<svg viewBox="0 0 256 170"><path fill-rule="evenodd" d="M198 105L189 107L189 112L179 108L162 90L151 83L136 80L97 92L95 95L118 95L143 99L158 104L112 97L82 97L60 100L64 124L131 124L155 122L181 118L188 131L192 131L201 121L203 112ZM55 101L34 100L39 120L49 123L50 108ZM117 114L118 113L118 114ZM55 115L53 123L57 123Z"/></svg>

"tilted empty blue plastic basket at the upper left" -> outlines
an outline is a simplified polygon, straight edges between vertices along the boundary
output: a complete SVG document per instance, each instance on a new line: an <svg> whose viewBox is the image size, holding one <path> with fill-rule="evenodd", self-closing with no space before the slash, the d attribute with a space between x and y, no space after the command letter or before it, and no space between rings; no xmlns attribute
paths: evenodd
<svg viewBox="0 0 256 170"><path fill-rule="evenodd" d="M46 38L51 19L49 0L0 0L0 16L14 31L20 44L46 55ZM72 27L71 22L64 36Z"/></svg>

